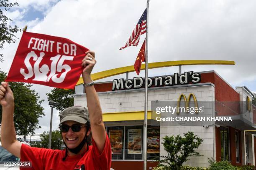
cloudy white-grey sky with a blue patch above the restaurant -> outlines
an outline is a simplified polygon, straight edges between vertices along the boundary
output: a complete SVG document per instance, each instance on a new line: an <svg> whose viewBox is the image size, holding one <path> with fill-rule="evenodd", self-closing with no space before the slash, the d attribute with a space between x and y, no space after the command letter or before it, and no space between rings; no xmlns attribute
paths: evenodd
<svg viewBox="0 0 256 170"><path fill-rule="evenodd" d="M6 13L12 25L28 32L66 37L96 52L93 72L133 65L138 47L123 47L146 8L146 0L10 0L19 6ZM148 61L234 60L236 65L183 66L184 71L215 70L233 87L246 85L256 92L256 6L255 0L150 0ZM17 34L21 37L21 33ZM1 70L8 72L15 44L0 53ZM168 75L178 67L149 70L149 76ZM129 78L135 76L131 73ZM144 71L141 71L141 76ZM121 75L124 76L124 75ZM113 80L113 77L104 80ZM41 129L49 131L51 110L46 93L51 87L34 85L46 101ZM54 110L53 130L59 124Z"/></svg>

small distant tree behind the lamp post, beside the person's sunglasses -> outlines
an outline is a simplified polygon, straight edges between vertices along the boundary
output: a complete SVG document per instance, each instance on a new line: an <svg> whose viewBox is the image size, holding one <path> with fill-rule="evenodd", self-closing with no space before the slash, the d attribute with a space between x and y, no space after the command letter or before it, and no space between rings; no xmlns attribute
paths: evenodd
<svg viewBox="0 0 256 170"><path fill-rule="evenodd" d="M48 148L49 144L49 132L45 132L40 135L42 148ZM58 140L59 139L59 140ZM61 132L59 130L54 130L51 132L51 149L60 149L63 145L61 138Z"/></svg>

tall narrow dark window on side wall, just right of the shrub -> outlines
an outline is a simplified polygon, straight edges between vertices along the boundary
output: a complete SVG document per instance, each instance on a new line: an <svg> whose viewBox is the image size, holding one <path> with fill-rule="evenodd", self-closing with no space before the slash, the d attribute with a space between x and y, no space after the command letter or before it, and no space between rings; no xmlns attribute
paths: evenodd
<svg viewBox="0 0 256 170"><path fill-rule="evenodd" d="M229 130L226 127L220 127L220 140L221 140L221 159L230 160L229 154Z"/></svg>

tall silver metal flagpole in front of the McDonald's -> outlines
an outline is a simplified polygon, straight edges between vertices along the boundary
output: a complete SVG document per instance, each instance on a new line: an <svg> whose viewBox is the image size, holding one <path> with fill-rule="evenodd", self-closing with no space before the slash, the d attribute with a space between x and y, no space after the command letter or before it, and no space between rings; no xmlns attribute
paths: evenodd
<svg viewBox="0 0 256 170"><path fill-rule="evenodd" d="M146 57L145 57L145 111L144 111L144 140L143 140L143 170L147 170L147 133L148 133L148 2L146 25Z"/></svg>

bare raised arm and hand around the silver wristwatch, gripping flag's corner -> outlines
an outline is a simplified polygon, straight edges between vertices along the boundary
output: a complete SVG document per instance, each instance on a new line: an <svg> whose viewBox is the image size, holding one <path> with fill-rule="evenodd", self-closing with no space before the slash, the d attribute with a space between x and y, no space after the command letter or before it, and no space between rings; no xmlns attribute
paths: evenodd
<svg viewBox="0 0 256 170"><path fill-rule="evenodd" d="M92 68L96 63L95 53L92 51L87 51L84 60L82 61L82 66L84 70L82 72L82 77L84 83L92 82L91 72ZM87 107L90 115L92 138L95 141L100 153L104 149L104 144L106 140L106 131L102 119L102 110L100 107L100 101L94 86L85 87Z"/></svg>

